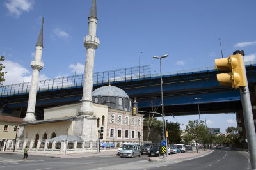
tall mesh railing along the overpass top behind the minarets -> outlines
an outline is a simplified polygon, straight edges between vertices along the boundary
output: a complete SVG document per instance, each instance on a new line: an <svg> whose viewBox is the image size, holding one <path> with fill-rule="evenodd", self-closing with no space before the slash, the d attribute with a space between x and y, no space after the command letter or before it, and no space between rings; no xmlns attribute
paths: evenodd
<svg viewBox="0 0 256 170"><path fill-rule="evenodd" d="M140 68L138 66L134 66L130 68L93 73L93 84L97 85L106 84L108 82L131 81L135 79L145 79L150 76L150 65L140 66ZM42 80L38 82L38 92L82 87L83 82L84 74ZM29 93L30 88L31 82L2 86L0 87L0 97Z"/></svg>

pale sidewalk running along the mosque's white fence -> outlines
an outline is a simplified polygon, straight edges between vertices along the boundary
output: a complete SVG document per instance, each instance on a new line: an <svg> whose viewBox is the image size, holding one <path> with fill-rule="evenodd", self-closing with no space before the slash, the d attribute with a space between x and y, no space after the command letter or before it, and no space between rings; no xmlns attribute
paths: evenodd
<svg viewBox="0 0 256 170"><path fill-rule="evenodd" d="M5 151L1 152L5 154L16 154L16 155L23 155L22 152L12 152L12 151ZM57 154L47 154L47 153L29 153L28 155L35 155L38 157L51 157L51 158L83 158L83 157L99 157L99 156L108 156L108 155L116 155L117 151L100 151L100 153L97 152L86 152L86 153L73 153L73 154L67 154L67 155L57 155Z"/></svg>

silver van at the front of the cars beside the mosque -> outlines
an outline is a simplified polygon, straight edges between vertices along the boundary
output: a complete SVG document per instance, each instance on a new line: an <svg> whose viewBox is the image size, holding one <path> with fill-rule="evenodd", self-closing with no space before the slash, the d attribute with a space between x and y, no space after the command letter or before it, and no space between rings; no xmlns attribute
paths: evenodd
<svg viewBox="0 0 256 170"><path fill-rule="evenodd" d="M120 151L120 157L140 157L141 156L141 146L140 144L125 144Z"/></svg>

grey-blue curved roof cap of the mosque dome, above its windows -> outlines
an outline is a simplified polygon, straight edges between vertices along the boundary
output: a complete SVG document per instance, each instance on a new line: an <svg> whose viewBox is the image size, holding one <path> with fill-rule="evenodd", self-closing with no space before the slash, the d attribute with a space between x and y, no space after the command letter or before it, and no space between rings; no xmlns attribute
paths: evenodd
<svg viewBox="0 0 256 170"><path fill-rule="evenodd" d="M92 92L92 96L96 97L96 96L110 96L110 97L127 97L129 98L129 96L127 95L127 93L125 93L124 90L115 87L115 86L102 86L100 88L95 89Z"/></svg>

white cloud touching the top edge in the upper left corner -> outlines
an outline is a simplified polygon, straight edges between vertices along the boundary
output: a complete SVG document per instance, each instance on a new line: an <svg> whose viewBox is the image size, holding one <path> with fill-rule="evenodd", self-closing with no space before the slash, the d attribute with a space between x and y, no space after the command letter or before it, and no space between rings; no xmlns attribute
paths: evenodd
<svg viewBox="0 0 256 170"><path fill-rule="evenodd" d="M29 12L33 9L35 0L8 0L4 6L8 9L10 15L19 18L22 12Z"/></svg>

